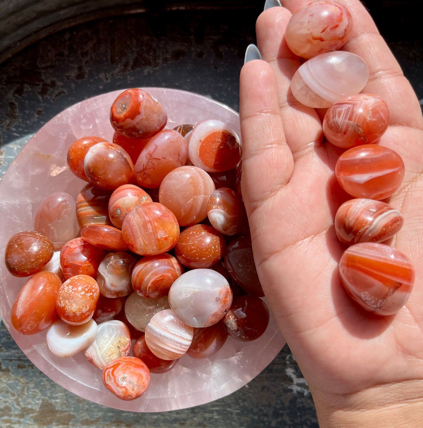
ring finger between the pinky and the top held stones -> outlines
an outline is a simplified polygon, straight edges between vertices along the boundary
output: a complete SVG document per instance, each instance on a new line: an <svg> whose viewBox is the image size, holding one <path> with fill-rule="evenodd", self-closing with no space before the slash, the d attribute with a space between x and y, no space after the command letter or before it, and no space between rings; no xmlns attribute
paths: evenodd
<svg viewBox="0 0 423 428"><path fill-rule="evenodd" d="M285 42L290 17L291 13L283 7L267 9L257 19L256 32L262 58L275 72L285 137L297 160L314 151L322 143L323 134L315 110L296 101L290 91L291 79L300 66L299 57Z"/></svg>

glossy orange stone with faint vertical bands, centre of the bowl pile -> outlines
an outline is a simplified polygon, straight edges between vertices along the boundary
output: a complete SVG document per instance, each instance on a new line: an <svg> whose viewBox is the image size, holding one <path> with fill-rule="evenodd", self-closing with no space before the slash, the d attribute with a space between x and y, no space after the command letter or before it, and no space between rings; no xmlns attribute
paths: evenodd
<svg viewBox="0 0 423 428"><path fill-rule="evenodd" d="M178 220L162 204L142 204L125 217L122 237L129 249L141 256L166 253L178 242Z"/></svg>

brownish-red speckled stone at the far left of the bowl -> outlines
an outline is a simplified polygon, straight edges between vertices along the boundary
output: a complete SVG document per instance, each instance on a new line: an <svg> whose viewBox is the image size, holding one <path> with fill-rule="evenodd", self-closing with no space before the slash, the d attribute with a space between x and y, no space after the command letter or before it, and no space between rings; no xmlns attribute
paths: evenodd
<svg viewBox="0 0 423 428"><path fill-rule="evenodd" d="M24 277L39 272L53 257L54 245L33 230L19 232L9 239L4 261L13 276Z"/></svg>

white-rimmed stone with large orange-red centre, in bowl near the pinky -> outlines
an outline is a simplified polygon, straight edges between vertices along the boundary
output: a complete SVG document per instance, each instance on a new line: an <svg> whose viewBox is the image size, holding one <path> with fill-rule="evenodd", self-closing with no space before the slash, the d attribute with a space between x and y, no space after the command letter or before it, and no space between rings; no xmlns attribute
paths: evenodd
<svg viewBox="0 0 423 428"><path fill-rule="evenodd" d="M219 120L205 120L190 134L188 156L194 166L205 171L227 171L242 158L241 142L228 125Z"/></svg>

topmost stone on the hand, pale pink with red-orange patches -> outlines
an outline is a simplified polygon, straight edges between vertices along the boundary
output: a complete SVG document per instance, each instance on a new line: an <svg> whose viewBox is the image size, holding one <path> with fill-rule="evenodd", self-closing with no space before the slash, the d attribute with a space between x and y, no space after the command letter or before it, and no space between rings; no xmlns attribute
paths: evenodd
<svg viewBox="0 0 423 428"><path fill-rule="evenodd" d="M305 59L337 51L347 43L353 29L350 12L334 1L308 3L290 18L285 40L293 53Z"/></svg>

